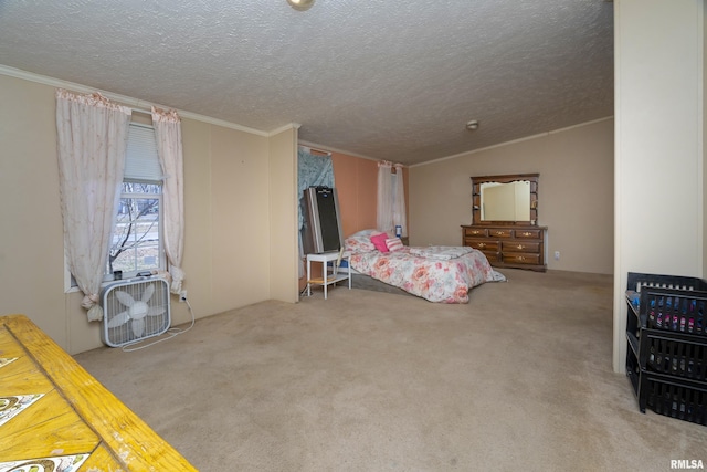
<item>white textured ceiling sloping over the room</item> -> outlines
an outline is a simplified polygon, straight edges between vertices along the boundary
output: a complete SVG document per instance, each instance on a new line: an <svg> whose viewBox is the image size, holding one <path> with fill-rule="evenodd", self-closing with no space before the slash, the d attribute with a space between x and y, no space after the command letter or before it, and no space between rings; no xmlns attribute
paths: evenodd
<svg viewBox="0 0 707 472"><path fill-rule="evenodd" d="M413 165L612 116L613 3L0 0L0 64Z"/></svg>

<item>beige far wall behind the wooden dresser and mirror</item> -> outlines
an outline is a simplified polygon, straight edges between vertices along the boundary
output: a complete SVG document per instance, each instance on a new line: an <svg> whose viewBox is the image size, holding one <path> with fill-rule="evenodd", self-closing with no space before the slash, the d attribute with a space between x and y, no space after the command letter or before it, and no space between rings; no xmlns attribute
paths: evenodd
<svg viewBox="0 0 707 472"><path fill-rule="evenodd" d="M469 177L535 172L538 223L548 227L548 269L611 274L612 118L412 166L410 244L461 244L460 225L472 222Z"/></svg>

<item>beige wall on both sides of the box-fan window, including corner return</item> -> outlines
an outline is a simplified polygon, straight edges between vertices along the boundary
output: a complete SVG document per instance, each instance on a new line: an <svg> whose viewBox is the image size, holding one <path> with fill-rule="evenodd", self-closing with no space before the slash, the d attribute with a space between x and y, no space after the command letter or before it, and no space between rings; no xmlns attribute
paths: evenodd
<svg viewBox="0 0 707 472"><path fill-rule="evenodd" d="M101 345L101 325L86 321L80 293L64 293L54 90L0 74L0 315L27 314L75 354ZM294 272L271 280L275 245L296 260L295 213L289 245L271 234L271 213L296 204L287 176L271 174L273 156L278 169L296 166L296 138L281 139L182 116L183 286L198 318L296 295ZM191 319L186 304L171 306L173 324Z"/></svg>

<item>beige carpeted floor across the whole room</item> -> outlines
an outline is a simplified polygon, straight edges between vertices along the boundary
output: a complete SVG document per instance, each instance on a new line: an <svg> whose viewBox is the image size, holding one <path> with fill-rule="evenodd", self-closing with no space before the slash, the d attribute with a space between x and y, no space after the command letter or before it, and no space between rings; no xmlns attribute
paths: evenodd
<svg viewBox="0 0 707 472"><path fill-rule="evenodd" d="M611 276L502 272L465 305L338 286L76 359L204 472L707 463L707 428L642 415L611 370Z"/></svg>

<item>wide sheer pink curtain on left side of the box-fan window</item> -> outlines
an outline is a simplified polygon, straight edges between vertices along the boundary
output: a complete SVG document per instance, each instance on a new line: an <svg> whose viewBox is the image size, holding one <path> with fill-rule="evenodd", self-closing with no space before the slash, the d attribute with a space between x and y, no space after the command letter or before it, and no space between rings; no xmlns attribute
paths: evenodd
<svg viewBox="0 0 707 472"><path fill-rule="evenodd" d="M88 321L101 321L101 282L125 167L130 108L98 93L56 90L56 156L68 270Z"/></svg>

